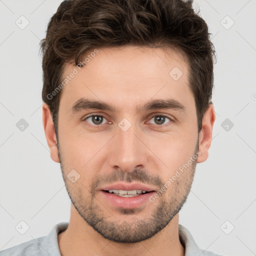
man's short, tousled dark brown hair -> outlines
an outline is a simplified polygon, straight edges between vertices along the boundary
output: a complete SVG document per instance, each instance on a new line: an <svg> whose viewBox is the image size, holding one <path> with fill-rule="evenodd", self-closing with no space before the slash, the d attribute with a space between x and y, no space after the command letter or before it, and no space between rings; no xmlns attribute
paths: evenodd
<svg viewBox="0 0 256 256"><path fill-rule="evenodd" d="M178 48L189 63L189 86L196 106L198 131L213 87L214 47L206 22L182 0L65 0L50 18L42 51L42 100L48 104L57 135L65 62L97 47L141 45ZM70 62L69 62L70 63Z"/></svg>

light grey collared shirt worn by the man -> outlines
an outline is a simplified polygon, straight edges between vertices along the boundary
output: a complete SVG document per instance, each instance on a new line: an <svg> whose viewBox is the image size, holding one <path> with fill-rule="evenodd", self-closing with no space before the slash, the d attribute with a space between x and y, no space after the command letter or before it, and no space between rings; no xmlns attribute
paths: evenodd
<svg viewBox="0 0 256 256"><path fill-rule="evenodd" d="M58 233L64 231L68 222L60 222L52 227L48 235L23 242L0 251L0 256L60 256L58 248ZM178 225L180 242L185 247L185 256L220 256L208 250L200 249L188 229Z"/></svg>

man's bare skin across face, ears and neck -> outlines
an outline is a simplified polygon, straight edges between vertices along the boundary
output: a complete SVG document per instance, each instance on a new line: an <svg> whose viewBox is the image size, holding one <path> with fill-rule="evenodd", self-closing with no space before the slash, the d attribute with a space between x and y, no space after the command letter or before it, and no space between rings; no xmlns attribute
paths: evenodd
<svg viewBox="0 0 256 256"><path fill-rule="evenodd" d="M72 202L68 228L58 235L61 255L184 255L178 211L190 190L196 162L208 157L213 105L203 116L198 136L188 66L181 54L132 45L98 50L62 89L58 141L49 107L42 106L50 155L60 162ZM63 76L73 67L66 64ZM183 73L176 81L169 75L173 67ZM84 109L74 114L70 108L81 97L113 104L118 111ZM136 110L151 99L169 98L179 101L184 111ZM98 127L92 118L85 120L91 114L104 115ZM159 124L154 117L161 114L170 119ZM131 123L126 131L118 126L123 118ZM98 191L120 180L160 189L197 150L197 159L159 197L141 207L123 210ZM67 178L72 169L80 175L74 183Z"/></svg>

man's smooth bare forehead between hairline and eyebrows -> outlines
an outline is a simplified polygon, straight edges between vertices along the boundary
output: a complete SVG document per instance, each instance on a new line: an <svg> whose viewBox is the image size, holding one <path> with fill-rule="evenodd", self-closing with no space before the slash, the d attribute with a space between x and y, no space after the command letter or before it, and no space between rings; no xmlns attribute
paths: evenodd
<svg viewBox="0 0 256 256"><path fill-rule="evenodd" d="M132 105L153 97L185 101L192 95L188 64L174 49L104 47L86 52L82 59L86 61L83 67L69 63L64 66L62 78L69 77L60 101L69 107L81 97Z"/></svg>

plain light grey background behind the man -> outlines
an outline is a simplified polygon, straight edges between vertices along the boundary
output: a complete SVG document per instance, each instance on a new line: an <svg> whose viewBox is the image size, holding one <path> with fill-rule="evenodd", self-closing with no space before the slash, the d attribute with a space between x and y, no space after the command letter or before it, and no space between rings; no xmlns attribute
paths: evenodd
<svg viewBox="0 0 256 256"><path fill-rule="evenodd" d="M38 55L39 39L60 2L0 0L0 249L69 220L70 200L41 121ZM209 158L197 164L180 223L201 248L256 255L256 1L196 0L194 7L208 23L217 52L216 121ZM15 24L21 15L29 21L24 29ZM226 15L234 21L229 29ZM16 127L21 118L29 124L24 131ZM226 118L234 124L228 131L221 126ZM21 220L29 226L23 235L15 229Z"/></svg>

